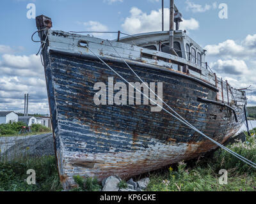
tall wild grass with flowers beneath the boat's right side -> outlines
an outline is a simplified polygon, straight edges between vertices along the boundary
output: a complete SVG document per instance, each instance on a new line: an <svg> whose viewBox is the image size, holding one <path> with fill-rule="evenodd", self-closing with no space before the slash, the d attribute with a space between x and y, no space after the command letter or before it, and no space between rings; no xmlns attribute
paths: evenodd
<svg viewBox="0 0 256 204"><path fill-rule="evenodd" d="M255 138L247 136L247 143L227 147L256 163ZM221 169L228 172L227 184L219 183ZM148 177L147 191L256 191L256 170L222 149L211 157L181 162Z"/></svg>

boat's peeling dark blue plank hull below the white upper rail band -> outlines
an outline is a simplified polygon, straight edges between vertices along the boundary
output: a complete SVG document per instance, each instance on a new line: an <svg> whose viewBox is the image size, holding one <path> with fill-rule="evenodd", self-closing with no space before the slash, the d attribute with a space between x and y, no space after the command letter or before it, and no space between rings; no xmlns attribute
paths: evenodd
<svg viewBox="0 0 256 204"><path fill-rule="evenodd" d="M122 62L107 60L128 82L139 82ZM122 179L193 159L216 145L152 105L95 105L95 83L124 82L99 59L45 52L45 78L61 183L75 187L74 175ZM163 82L163 101L205 135L224 143L243 124L243 106L202 103L216 100L211 86L171 71L132 66L148 84ZM164 107L166 108L166 107ZM168 109L168 108L167 108Z"/></svg>

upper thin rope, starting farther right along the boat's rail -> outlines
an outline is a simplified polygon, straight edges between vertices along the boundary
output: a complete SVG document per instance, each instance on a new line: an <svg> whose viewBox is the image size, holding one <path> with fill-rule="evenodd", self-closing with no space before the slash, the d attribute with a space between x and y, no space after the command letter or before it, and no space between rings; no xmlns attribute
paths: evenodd
<svg viewBox="0 0 256 204"><path fill-rule="evenodd" d="M113 45L110 43L110 41L108 40L108 42L109 42L109 44L111 45L111 47L113 47ZM143 84L145 84L145 82L143 82L143 80L136 74L136 72L131 68L131 66L129 66L129 64L127 64L127 62L124 60L124 58L116 51L116 49L115 49L115 47L113 47L113 49L115 50L115 52L119 55L119 57L125 62L125 64L128 66L128 68L129 69L131 69L131 71L134 73L134 75L136 75L136 77L138 77L139 79L140 79L140 81L143 83ZM155 95L155 96L157 96L157 94L154 92L154 91L152 91L152 89L150 89L150 87L148 87L148 85L147 84L145 84L146 85L146 87ZM143 94L144 95L144 94ZM159 98L159 96L157 96L157 98ZM159 98L163 103L164 103L164 105L166 105L168 108L170 108L170 110L172 110L172 112L174 112L178 117L180 117L180 119L182 119L183 121L184 121L184 123L185 124L187 124L188 126L189 126L189 128L192 128L192 129L196 129L193 125L191 125L186 119L184 119L181 115L179 115L179 113L177 113L177 112L175 112L175 110L173 110L169 105L167 105L164 101L163 101L163 99L161 99L161 98ZM204 133L202 133L202 134L204 134ZM201 134L201 135L202 135ZM215 141L215 140L214 140ZM216 143L218 143L218 142L216 142ZM220 146L221 144L219 144L218 143L218 145ZM222 145L223 146L223 145ZM221 146L220 146L221 147ZM223 146L223 147L221 147L221 148L223 148L223 149L225 149L226 148L226 150L229 150L227 147L225 147L225 146ZM231 151L231 150L230 150ZM234 152L235 154L236 154L236 152ZM237 154L237 156L240 156L239 154ZM243 157L243 156L241 156L241 157ZM246 159L246 158L244 158L244 159ZM246 160L248 160L248 159L246 159ZM250 160L248 160L249 162L251 162ZM253 163L254 164L254 163Z"/></svg>

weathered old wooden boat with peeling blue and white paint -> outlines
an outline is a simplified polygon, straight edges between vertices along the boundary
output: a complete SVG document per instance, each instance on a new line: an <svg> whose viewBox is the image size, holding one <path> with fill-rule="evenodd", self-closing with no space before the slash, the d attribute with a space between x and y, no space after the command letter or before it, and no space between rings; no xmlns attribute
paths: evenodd
<svg viewBox="0 0 256 204"><path fill-rule="evenodd" d="M234 135L244 122L245 92L216 77L205 63L205 50L184 31L174 31L176 52L172 52L169 31L137 34L109 43L93 36L53 31L51 18L44 15L36 17L36 25L65 189L76 186L74 175L99 180L118 175L125 179L217 147L161 108L152 111L154 103L134 101L133 87L128 91L133 96L125 98L131 103L113 103L120 99L113 97L120 92L120 84L118 89L113 85L124 82L116 73L128 82L140 82L127 64L147 84L162 82L163 101L219 143ZM97 82L108 87L102 100L108 103L95 104ZM143 98L140 92L136 96Z"/></svg>

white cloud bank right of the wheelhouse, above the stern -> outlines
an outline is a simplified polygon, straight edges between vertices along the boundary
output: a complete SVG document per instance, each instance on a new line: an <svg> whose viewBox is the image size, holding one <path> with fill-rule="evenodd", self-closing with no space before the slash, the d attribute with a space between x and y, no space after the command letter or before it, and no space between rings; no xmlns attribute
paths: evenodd
<svg viewBox="0 0 256 204"><path fill-rule="evenodd" d="M246 91L248 105L256 105L256 34L249 34L241 41L226 40L217 45L207 45L210 66L233 87L250 87ZM216 60L218 58L218 60Z"/></svg>

